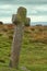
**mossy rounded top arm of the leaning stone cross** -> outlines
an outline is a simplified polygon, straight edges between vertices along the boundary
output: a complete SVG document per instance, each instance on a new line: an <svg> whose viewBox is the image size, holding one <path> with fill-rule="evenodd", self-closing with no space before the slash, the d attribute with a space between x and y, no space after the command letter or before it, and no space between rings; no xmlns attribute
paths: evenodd
<svg viewBox="0 0 47 71"><path fill-rule="evenodd" d="M21 16L22 22L25 22L26 20L26 12L27 12L26 9L23 7L20 7L17 9L17 14Z"/></svg>

